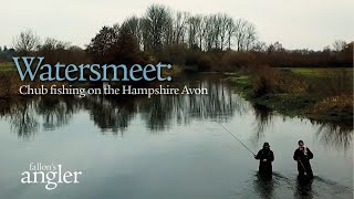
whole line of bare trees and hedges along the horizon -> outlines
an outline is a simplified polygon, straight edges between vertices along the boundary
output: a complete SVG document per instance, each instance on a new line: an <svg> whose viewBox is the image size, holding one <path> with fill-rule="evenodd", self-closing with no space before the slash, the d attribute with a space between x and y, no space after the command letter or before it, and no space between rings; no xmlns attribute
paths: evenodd
<svg viewBox="0 0 354 199"><path fill-rule="evenodd" d="M226 13L191 14L152 4L140 17L103 27L81 49L67 42L22 31L13 40L20 55L44 55L48 62L139 63L197 65L198 71L232 71L249 64L270 66L352 66L353 42L337 40L322 51L285 50L259 40L256 25ZM7 61L0 51L0 62ZM7 54L7 53L6 53Z"/></svg>

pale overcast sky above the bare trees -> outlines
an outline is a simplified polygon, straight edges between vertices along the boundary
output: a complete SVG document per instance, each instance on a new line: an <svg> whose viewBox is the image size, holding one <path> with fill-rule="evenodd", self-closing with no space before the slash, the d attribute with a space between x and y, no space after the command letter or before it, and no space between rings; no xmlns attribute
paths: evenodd
<svg viewBox="0 0 354 199"><path fill-rule="evenodd" d="M225 12L256 24L259 39L287 49L322 50L354 40L354 0L1 0L0 45L21 30L84 46L103 25L142 15L152 3L196 13Z"/></svg>

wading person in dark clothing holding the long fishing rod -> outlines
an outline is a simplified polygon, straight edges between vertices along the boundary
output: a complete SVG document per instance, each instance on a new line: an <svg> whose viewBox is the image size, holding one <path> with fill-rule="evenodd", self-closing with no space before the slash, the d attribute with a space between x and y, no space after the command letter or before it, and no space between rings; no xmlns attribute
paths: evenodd
<svg viewBox="0 0 354 199"><path fill-rule="evenodd" d="M271 177L272 161L274 160L274 155L273 151L270 149L269 143L263 144L263 148L258 151L254 158L259 159L259 174L261 176Z"/></svg>

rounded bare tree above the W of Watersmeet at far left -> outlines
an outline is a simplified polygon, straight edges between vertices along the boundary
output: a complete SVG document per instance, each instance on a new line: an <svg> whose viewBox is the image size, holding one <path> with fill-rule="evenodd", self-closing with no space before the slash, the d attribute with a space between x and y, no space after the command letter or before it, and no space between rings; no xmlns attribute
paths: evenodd
<svg viewBox="0 0 354 199"><path fill-rule="evenodd" d="M31 30L21 31L13 39L13 48L22 55L28 55L40 45L40 38Z"/></svg>

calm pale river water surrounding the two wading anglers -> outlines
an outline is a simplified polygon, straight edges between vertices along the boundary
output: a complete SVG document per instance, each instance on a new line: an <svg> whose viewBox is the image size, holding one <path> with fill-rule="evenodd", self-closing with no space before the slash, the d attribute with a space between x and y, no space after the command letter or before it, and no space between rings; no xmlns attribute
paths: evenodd
<svg viewBox="0 0 354 199"><path fill-rule="evenodd" d="M0 198L353 198L353 126L290 118L233 93L223 76L176 82L208 95L42 96L2 102ZM181 86L181 85L176 85ZM253 153L269 142L273 178ZM296 180L299 139L313 151L312 182ZM80 184L21 184L31 163L80 170Z"/></svg>

